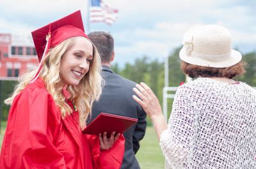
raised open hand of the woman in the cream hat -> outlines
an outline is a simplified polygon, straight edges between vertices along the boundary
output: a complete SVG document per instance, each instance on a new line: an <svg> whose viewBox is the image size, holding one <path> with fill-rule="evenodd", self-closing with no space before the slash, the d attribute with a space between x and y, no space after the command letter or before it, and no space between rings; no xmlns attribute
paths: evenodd
<svg viewBox="0 0 256 169"><path fill-rule="evenodd" d="M150 87L141 82L140 84L136 84L133 91L140 98L135 95L133 95L132 98L141 105L149 117L152 118L154 115L162 115L160 103Z"/></svg>

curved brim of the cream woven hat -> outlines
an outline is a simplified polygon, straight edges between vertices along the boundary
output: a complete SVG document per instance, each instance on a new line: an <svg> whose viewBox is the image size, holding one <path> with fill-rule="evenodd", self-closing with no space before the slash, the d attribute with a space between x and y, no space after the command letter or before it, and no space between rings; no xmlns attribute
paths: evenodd
<svg viewBox="0 0 256 169"><path fill-rule="evenodd" d="M179 53L179 57L182 61L188 62L189 64L195 64L198 66L205 66L211 68L227 68L233 66L241 61L242 55L237 50L231 50L230 57L223 61L205 61L203 59L188 55L186 50L182 48Z"/></svg>

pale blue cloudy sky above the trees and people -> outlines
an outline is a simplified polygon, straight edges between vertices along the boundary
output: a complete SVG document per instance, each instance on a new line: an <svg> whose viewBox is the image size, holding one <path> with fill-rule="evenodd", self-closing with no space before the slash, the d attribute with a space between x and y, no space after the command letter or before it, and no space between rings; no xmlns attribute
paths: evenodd
<svg viewBox="0 0 256 169"><path fill-rule="evenodd" d="M105 0L119 10L112 26L91 24L90 31L108 31L115 38L117 62L134 62L147 55L163 61L182 43L189 28L203 24L227 27L233 47L256 50L256 1L254 0ZM0 33L30 36L31 31L76 10L86 20L82 0L2 0Z"/></svg>

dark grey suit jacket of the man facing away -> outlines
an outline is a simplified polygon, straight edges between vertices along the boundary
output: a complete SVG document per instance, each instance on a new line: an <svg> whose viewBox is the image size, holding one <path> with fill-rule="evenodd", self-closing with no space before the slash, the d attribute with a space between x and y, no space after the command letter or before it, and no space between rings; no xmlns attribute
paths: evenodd
<svg viewBox="0 0 256 169"><path fill-rule="evenodd" d="M140 168L135 154L140 148L140 140L145 135L147 122L143 108L132 99L132 95L135 94L132 88L136 83L114 73L108 66L102 66L102 77L105 80L105 85L100 100L93 103L90 121L101 112L138 119L138 122L124 133L125 154L121 168Z"/></svg>

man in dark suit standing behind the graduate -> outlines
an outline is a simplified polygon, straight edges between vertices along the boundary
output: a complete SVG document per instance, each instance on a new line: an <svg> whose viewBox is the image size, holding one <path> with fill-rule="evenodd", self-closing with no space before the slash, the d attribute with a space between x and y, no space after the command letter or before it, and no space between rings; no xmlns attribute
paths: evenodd
<svg viewBox="0 0 256 169"><path fill-rule="evenodd" d="M95 31L88 34L88 36L99 51L102 59L102 77L105 80L100 100L93 104L90 121L95 119L101 112L138 119L138 122L124 133L125 154L121 168L140 168L135 154L140 149L140 140L145 135L147 122L143 108L132 99L132 95L135 94L132 91L132 87L136 83L121 77L111 70L111 62L115 58L114 40L111 34Z"/></svg>

